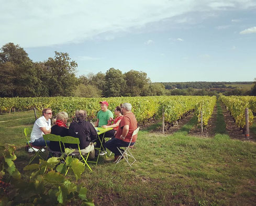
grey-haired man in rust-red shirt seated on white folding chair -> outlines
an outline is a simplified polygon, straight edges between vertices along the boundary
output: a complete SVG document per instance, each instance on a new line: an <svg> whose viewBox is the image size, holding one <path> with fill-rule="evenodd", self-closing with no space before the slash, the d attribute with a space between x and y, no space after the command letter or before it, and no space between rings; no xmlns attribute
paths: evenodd
<svg viewBox="0 0 256 206"><path fill-rule="evenodd" d="M130 103L124 103L121 106L121 114L124 115L124 117L119 123L115 138L112 138L105 143L105 146L108 148L108 150L115 154L114 163L116 163L121 156L121 153L118 151L117 147L119 149L120 147L127 147L132 138L133 131L138 128L137 120L131 112ZM133 136L130 145L132 146L133 144L135 144L136 140L137 135ZM124 151L123 149L120 150Z"/></svg>

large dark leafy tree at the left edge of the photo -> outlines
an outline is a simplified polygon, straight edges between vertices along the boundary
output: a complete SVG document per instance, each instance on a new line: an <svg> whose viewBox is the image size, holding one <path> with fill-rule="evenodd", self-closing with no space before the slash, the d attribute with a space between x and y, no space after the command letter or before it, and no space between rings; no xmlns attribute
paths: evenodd
<svg viewBox="0 0 256 206"><path fill-rule="evenodd" d="M27 52L14 43L5 44L0 52L1 97L37 96L41 83ZM40 93L39 93L40 95Z"/></svg>

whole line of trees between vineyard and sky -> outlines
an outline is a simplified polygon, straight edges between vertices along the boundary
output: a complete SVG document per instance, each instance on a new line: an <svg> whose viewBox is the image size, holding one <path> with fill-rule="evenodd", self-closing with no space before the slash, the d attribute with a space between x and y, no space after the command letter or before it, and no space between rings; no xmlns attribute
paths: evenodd
<svg viewBox="0 0 256 206"><path fill-rule="evenodd" d="M226 82L152 83L146 72L106 73L75 76L77 63L68 53L55 51L54 58L33 62L18 44L7 43L0 51L0 97L119 97L162 95L218 95L211 88L226 88ZM248 83L248 82L247 82ZM252 91L223 90L225 95L256 95ZM254 91L254 92L253 92ZM219 90L222 92L222 90ZM249 94L250 93L250 94Z"/></svg>

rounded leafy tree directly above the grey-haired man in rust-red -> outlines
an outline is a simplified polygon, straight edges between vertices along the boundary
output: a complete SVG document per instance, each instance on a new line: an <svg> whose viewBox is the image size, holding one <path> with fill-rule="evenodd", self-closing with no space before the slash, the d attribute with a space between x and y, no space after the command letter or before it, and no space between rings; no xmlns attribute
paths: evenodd
<svg viewBox="0 0 256 206"><path fill-rule="evenodd" d="M148 96L150 78L146 72L131 70L125 73L126 96Z"/></svg>

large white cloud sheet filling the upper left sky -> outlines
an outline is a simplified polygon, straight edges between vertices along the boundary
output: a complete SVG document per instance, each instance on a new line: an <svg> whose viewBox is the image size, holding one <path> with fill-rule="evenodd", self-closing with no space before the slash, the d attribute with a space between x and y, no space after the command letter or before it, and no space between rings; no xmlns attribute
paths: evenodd
<svg viewBox="0 0 256 206"><path fill-rule="evenodd" d="M191 21L190 14L202 19L219 10L247 9L255 0L187 1L81 1L81 0L0 0L0 46L7 42L21 47L43 47L80 43L109 33L133 32L158 21L171 24ZM199 22L199 21L198 21ZM112 40L116 35L102 37Z"/></svg>

